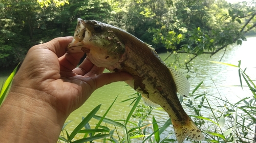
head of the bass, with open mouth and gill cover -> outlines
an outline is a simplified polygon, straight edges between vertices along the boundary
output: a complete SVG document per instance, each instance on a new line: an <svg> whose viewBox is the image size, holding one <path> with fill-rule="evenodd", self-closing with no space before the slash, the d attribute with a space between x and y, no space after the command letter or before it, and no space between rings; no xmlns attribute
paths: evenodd
<svg viewBox="0 0 256 143"><path fill-rule="evenodd" d="M125 52L125 45L110 25L78 18L68 52L85 52L96 66L109 67L121 59Z"/></svg>

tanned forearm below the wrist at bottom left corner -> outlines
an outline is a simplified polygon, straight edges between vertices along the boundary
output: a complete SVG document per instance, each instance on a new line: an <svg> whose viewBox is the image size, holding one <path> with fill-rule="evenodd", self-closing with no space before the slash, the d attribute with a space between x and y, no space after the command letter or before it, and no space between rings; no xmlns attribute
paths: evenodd
<svg viewBox="0 0 256 143"><path fill-rule="evenodd" d="M10 92L0 108L1 142L55 143L64 122L46 102Z"/></svg>

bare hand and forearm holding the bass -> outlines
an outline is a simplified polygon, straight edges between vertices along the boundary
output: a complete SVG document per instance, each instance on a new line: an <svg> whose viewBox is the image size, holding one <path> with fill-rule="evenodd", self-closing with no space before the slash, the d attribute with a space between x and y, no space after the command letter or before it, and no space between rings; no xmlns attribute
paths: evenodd
<svg viewBox="0 0 256 143"><path fill-rule="evenodd" d="M66 53L73 37L33 46L0 108L1 142L57 142L72 111L105 84L132 80L124 72L102 73L83 54Z"/></svg>

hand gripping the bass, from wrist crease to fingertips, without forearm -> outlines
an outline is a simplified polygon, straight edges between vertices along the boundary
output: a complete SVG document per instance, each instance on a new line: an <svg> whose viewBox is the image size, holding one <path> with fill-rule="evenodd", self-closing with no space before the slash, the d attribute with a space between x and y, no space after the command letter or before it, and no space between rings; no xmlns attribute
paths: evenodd
<svg viewBox="0 0 256 143"><path fill-rule="evenodd" d="M16 75L19 78L13 83L44 95L36 98L65 116L80 107L93 91L104 84L132 79L126 73L102 74L104 68L96 67L88 59L76 68L84 53L66 53L65 48L71 39L57 38L32 47Z"/></svg>

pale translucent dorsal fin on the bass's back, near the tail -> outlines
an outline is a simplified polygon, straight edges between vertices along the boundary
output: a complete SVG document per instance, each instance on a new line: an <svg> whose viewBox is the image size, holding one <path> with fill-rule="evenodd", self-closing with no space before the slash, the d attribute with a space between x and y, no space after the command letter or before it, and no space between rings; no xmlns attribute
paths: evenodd
<svg viewBox="0 0 256 143"><path fill-rule="evenodd" d="M172 73L173 75L173 78L174 78L174 81L175 81L175 84L176 84L176 88L177 88L177 92L183 96L188 96L189 94L189 88L190 88L190 85L189 85L189 82L187 80L187 78L179 73L178 71L174 70L174 69L170 69L170 73Z"/></svg>

